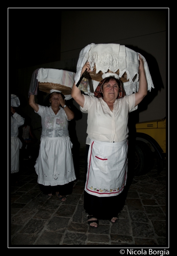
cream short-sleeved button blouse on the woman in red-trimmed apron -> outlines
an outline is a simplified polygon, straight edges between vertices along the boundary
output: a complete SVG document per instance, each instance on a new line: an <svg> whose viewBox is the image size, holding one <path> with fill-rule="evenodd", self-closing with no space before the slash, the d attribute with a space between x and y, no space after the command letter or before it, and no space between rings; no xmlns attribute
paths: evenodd
<svg viewBox="0 0 177 256"><path fill-rule="evenodd" d="M113 111L103 98L84 95L83 113L88 113L87 133L92 140L121 142L128 138L128 113L136 110L135 94L116 99ZM89 144L88 138L86 144Z"/></svg>

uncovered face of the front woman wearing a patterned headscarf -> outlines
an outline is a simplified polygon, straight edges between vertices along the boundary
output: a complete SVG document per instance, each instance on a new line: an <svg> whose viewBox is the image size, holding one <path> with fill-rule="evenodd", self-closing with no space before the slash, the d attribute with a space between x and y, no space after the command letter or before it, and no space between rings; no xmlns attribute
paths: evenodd
<svg viewBox="0 0 177 256"><path fill-rule="evenodd" d="M103 84L102 90L103 98L116 100L119 94L119 85L116 80L110 79L109 82Z"/></svg>

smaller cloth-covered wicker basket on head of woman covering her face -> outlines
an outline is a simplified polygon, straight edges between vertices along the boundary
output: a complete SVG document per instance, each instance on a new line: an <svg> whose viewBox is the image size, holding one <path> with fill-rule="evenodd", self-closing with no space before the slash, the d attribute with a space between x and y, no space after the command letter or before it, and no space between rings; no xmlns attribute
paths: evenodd
<svg viewBox="0 0 177 256"><path fill-rule="evenodd" d="M76 73L63 69L39 68L36 79L39 90L50 93L50 90L61 91L65 99L71 99L71 90Z"/></svg>

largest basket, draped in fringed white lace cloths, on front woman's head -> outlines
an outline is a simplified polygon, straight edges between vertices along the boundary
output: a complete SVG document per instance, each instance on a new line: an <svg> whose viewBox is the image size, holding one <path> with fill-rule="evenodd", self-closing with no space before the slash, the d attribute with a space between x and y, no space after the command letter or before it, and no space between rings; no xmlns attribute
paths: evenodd
<svg viewBox="0 0 177 256"><path fill-rule="evenodd" d="M97 85L102 80L101 76L104 73L113 72L119 75L126 95L136 93L139 89L139 54L120 44L87 45L81 50L79 55L77 72L74 79L75 83L77 84L80 79L84 64L89 61L92 72L84 72L84 78L79 85L77 84L80 90L87 88L85 84L91 84L92 81L93 90L85 89L84 91L87 94L93 94ZM154 88L153 81L146 59L142 55L141 57L144 60L148 90L151 91L151 88Z"/></svg>

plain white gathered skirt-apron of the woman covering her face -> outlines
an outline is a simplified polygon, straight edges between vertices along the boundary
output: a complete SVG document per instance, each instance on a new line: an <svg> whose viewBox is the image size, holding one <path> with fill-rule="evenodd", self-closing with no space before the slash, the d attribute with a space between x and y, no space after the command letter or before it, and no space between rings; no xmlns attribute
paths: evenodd
<svg viewBox="0 0 177 256"><path fill-rule="evenodd" d="M41 137L39 156L34 166L39 184L56 186L76 180L72 146L69 136Z"/></svg>

